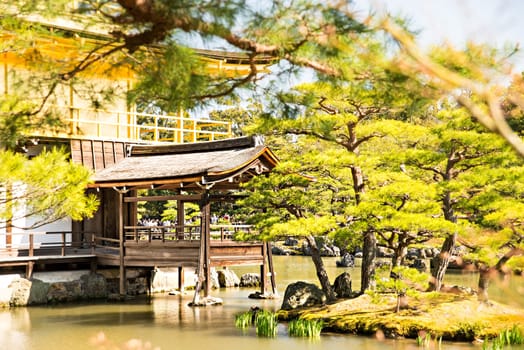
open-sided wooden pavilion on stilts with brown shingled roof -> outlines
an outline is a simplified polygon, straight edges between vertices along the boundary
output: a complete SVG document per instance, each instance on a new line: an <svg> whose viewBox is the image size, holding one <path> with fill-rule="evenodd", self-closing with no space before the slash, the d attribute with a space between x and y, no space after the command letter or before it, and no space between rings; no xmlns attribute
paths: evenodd
<svg viewBox="0 0 524 350"><path fill-rule="evenodd" d="M96 215L73 227L73 241L93 233L99 265L119 266L120 294L126 294L126 268L195 268L198 281L194 303L204 290L210 296L211 268L259 265L261 293L271 283L276 293L271 249L264 242L239 242L226 230L211 225L211 202L231 201L239 184L271 171L278 160L261 138L242 137L178 145L133 145L119 162L96 171L89 191L100 199ZM147 189L169 190L169 195L140 195ZM140 226L137 203L177 201L177 221L169 226ZM200 207L200 223L184 222L184 203ZM246 229L244 227L243 229ZM270 279L268 279L270 276ZM206 299L205 298L205 299Z"/></svg>

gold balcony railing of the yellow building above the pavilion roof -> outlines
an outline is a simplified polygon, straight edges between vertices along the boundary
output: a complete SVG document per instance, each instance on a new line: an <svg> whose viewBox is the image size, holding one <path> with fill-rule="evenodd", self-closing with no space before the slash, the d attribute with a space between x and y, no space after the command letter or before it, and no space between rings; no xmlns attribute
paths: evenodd
<svg viewBox="0 0 524 350"><path fill-rule="evenodd" d="M67 106L53 108L66 116L63 121L68 126L67 130L38 130L38 135L34 136L170 143L232 137L231 123L227 121Z"/></svg>

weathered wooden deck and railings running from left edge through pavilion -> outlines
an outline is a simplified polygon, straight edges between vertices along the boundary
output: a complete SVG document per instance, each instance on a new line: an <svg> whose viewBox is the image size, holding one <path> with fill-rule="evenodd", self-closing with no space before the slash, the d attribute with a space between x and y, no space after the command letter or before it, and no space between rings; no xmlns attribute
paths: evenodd
<svg viewBox="0 0 524 350"><path fill-rule="evenodd" d="M83 242L68 242L71 232L26 233L27 243L0 248L0 273L25 271L31 278L33 271L61 268L64 270L89 266L124 268L178 267L198 268L201 241L198 226L126 226L123 248L118 239L90 235ZM267 243L238 242L232 238L235 230L247 227L215 225L210 240L210 267L266 264ZM35 237L55 234L54 243L36 243ZM123 252L121 251L123 249Z"/></svg>

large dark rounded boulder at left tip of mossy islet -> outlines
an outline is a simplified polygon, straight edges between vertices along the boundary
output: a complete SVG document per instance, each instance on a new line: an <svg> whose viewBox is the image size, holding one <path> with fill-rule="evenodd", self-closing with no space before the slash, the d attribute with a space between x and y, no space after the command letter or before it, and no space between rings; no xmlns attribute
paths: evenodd
<svg viewBox="0 0 524 350"><path fill-rule="evenodd" d="M293 310L325 303L326 295L320 288L312 283L299 281L287 286L281 309Z"/></svg>

